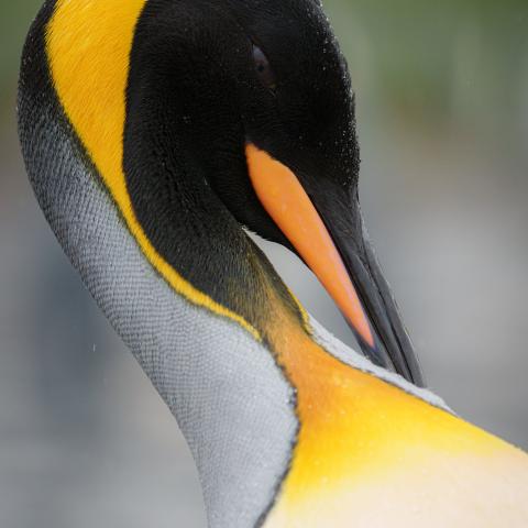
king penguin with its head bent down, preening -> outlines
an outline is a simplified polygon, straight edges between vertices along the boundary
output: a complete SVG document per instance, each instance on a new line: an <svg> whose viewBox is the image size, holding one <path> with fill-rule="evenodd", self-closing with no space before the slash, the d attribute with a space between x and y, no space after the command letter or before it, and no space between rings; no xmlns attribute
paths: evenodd
<svg viewBox="0 0 528 528"><path fill-rule="evenodd" d="M528 457L424 388L318 0L47 0L19 130L45 218L185 435L211 528L528 526ZM361 352L248 230L309 266Z"/></svg>

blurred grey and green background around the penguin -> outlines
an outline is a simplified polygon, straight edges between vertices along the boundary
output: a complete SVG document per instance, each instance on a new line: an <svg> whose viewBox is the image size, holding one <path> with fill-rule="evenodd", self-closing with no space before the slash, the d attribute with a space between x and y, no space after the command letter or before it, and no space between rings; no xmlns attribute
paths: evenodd
<svg viewBox="0 0 528 528"><path fill-rule="evenodd" d="M205 527L172 416L32 195L14 101L41 2L0 2L0 526ZM367 224L430 386L528 448L528 3L326 8L358 95ZM310 273L266 251L351 342Z"/></svg>

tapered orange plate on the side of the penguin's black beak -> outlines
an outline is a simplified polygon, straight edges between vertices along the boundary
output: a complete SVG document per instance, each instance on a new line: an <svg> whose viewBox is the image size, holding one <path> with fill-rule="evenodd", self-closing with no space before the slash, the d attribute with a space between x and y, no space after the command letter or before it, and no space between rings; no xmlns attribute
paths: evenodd
<svg viewBox="0 0 528 528"><path fill-rule="evenodd" d="M371 348L374 336L346 267L314 204L295 174L264 151L245 147L258 200L315 273L355 332Z"/></svg>

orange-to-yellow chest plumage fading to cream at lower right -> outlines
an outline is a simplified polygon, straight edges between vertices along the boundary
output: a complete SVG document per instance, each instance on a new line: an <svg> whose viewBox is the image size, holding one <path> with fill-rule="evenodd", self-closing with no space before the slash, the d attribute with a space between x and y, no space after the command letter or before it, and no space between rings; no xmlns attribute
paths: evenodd
<svg viewBox="0 0 528 528"><path fill-rule="evenodd" d="M528 526L525 453L280 332L300 431L266 528Z"/></svg>

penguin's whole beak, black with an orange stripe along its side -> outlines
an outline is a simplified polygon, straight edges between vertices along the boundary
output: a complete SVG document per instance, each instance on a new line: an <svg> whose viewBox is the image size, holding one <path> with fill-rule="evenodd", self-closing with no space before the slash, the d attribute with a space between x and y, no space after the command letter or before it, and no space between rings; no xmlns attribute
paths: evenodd
<svg viewBox="0 0 528 528"><path fill-rule="evenodd" d="M293 170L252 143L245 155L258 200L332 297L364 354L422 385L416 354L362 222L359 233L353 227L348 235L340 232L343 220L332 220L331 208L315 205Z"/></svg>

